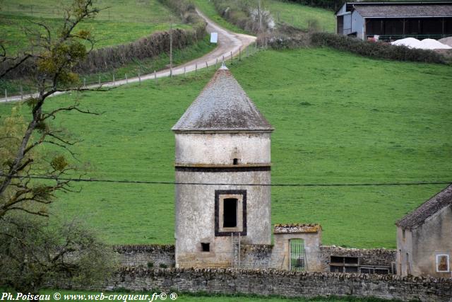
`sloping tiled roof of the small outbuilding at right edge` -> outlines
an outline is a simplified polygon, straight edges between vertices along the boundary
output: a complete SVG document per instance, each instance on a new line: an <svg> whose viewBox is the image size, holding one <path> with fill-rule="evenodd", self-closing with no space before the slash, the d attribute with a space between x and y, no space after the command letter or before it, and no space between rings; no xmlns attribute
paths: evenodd
<svg viewBox="0 0 452 302"><path fill-rule="evenodd" d="M396 222L400 228L416 228L424 223L426 219L438 212L439 210L452 204L452 185L446 187L434 197L427 200L410 214Z"/></svg>

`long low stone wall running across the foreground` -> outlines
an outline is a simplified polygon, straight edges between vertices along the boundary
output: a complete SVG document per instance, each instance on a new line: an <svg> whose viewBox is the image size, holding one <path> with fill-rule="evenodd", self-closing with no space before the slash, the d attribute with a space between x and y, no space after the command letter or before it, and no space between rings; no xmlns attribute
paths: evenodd
<svg viewBox="0 0 452 302"><path fill-rule="evenodd" d="M124 268L106 289L288 297L357 296L451 301L452 279L245 269Z"/></svg>

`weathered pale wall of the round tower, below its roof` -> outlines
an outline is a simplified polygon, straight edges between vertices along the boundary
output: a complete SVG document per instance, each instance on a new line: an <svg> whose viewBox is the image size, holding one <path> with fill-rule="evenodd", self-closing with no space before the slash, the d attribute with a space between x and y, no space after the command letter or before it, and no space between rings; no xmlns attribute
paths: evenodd
<svg viewBox="0 0 452 302"><path fill-rule="evenodd" d="M215 234L215 192L246 192L241 243L270 244L270 186L259 185L270 184L270 133L176 134L175 174L178 267L232 265L232 237ZM203 252L201 243L209 243L210 251Z"/></svg>

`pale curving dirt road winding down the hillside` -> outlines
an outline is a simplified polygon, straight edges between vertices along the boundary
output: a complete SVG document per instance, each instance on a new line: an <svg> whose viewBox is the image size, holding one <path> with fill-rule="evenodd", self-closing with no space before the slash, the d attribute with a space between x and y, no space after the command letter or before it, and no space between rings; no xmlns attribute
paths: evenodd
<svg viewBox="0 0 452 302"><path fill-rule="evenodd" d="M192 72L195 71L196 66L198 69L206 68L206 62L208 66L213 66L216 63L218 63L218 67L220 66L222 60L224 59L229 60L232 57L236 57L239 55L239 52L244 50L248 45L253 43L256 40L256 37L251 35L243 35L239 33L231 33L228 30L225 30L224 28L221 28L220 25L214 23L209 18L203 15L201 11L198 11L196 9L196 12L204 18L207 22L207 32L208 33L218 33L218 47L215 48L212 52L209 52L208 54L204 55L203 57L200 57L198 59L194 59L193 61L187 62L185 64L174 66L172 69L172 74L178 75L178 74L184 74L184 72ZM169 76L169 69L164 69L161 71L157 71L155 74L145 74L141 76L141 81L146 80L153 80L155 78L163 78ZM140 81L138 77L131 78L126 80L118 80L114 82L107 82L102 83L102 87L114 87L114 86L121 86L125 85L126 83L136 83ZM97 88L98 85L90 85L87 86L87 88ZM54 93L53 95L59 95L61 93ZM53 96L52 95L52 96ZM33 95L24 95L23 99L27 99L32 97ZM15 96L8 96L8 99L6 98L0 98L1 102L13 102L21 100L20 95Z"/></svg>

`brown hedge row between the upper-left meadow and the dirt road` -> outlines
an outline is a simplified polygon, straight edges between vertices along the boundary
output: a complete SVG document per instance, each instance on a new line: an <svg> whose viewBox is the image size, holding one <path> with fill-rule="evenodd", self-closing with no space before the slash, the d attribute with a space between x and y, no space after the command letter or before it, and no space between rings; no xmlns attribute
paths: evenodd
<svg viewBox="0 0 452 302"><path fill-rule="evenodd" d="M198 16L194 6L189 4L189 1L160 0L160 2L178 13L184 23L191 23L192 25L192 28L188 30L173 30L174 49L182 49L203 39L204 35L206 35L206 23ZM93 50L83 63L74 67L74 70L81 74L93 74L124 66L124 64L133 62L135 59L156 57L165 52L169 52L169 32L157 32L125 45ZM34 74L35 63L32 61L25 63L20 68L8 73L8 79L19 79L23 76ZM7 64L0 64L0 71L7 68Z"/></svg>

